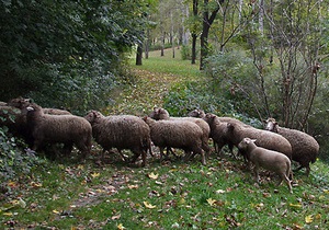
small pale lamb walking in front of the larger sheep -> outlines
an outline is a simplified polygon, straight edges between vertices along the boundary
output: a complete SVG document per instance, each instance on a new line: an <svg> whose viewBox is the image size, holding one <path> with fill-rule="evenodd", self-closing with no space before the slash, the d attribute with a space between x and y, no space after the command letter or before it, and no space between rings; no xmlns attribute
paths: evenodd
<svg viewBox="0 0 329 230"><path fill-rule="evenodd" d="M291 181L288 176L291 174L291 160L283 153L268 150L262 147L258 147L254 142L257 140L250 138L243 138L238 148L246 152L249 162L254 164L256 180L259 183L259 168L264 168L275 172L280 176L277 186L284 180L288 186L291 193L293 193ZM250 165L250 164L249 164Z"/></svg>

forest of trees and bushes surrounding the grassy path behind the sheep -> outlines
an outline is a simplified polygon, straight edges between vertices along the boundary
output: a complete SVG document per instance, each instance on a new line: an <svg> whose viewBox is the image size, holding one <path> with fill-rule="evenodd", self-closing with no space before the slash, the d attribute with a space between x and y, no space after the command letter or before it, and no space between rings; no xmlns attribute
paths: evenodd
<svg viewBox="0 0 329 230"><path fill-rule="evenodd" d="M328 160L328 16L327 0L1 0L0 99L109 108L134 84L132 54L143 65L171 48L201 72L166 95L172 115L202 108L258 127L274 117L315 136Z"/></svg>

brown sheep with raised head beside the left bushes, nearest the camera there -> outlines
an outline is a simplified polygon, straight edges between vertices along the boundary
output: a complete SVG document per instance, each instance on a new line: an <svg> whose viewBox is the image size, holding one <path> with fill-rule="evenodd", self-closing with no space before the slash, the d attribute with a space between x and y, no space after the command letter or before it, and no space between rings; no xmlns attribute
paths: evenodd
<svg viewBox="0 0 329 230"><path fill-rule="evenodd" d="M46 143L64 143L67 153L76 145L82 153L82 160L90 153L92 128L83 117L44 114L42 107L33 103L26 110L26 122L34 138L33 150Z"/></svg>

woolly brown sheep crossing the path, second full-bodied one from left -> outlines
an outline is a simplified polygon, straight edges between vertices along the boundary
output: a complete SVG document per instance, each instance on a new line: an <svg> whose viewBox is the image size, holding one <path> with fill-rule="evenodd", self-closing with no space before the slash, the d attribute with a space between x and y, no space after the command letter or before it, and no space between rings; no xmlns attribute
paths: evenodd
<svg viewBox="0 0 329 230"><path fill-rule="evenodd" d="M134 153L133 162L141 154L143 165L146 165L147 150L151 153L150 130L141 118L133 115L104 116L98 111L89 112L84 118L92 126L95 141L103 148L102 158L111 148L116 148L120 153L122 149L129 149Z"/></svg>

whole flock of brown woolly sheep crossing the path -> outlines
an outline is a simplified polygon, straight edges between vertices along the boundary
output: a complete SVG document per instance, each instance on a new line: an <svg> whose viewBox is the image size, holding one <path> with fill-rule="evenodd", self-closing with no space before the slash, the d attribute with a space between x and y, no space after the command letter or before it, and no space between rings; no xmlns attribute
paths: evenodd
<svg viewBox="0 0 329 230"><path fill-rule="evenodd" d="M29 99L13 99L8 103L0 102L0 126L7 126L13 135L22 137L33 150L45 148L58 149L69 154L72 147L81 152L82 160L91 151L92 140L105 151L116 148L121 156L123 149L134 153L133 162L140 156L146 165L147 152L151 156L151 143L160 149L162 160L172 148L184 151L184 160L189 161L200 154L202 163L211 153L209 139L215 151L220 152L228 145L234 158L232 148L237 147L246 162L254 165L259 180L259 168L275 172L281 181L285 181L292 192L292 161L306 168L315 162L319 152L318 142L309 135L283 128L273 118L266 120L265 129L258 129L231 117L219 117L194 110L188 117L170 117L161 107L156 107L145 117L134 115L104 116L91 111L84 117L76 116L67 111L44 108Z"/></svg>

